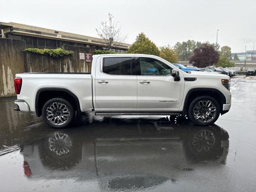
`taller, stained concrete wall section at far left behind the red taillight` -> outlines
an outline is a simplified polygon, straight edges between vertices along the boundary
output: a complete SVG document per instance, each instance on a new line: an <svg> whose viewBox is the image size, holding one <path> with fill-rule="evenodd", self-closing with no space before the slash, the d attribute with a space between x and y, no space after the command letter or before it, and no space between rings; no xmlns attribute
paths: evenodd
<svg viewBox="0 0 256 192"><path fill-rule="evenodd" d="M16 73L24 72L25 41L0 38L0 97L14 96Z"/></svg>

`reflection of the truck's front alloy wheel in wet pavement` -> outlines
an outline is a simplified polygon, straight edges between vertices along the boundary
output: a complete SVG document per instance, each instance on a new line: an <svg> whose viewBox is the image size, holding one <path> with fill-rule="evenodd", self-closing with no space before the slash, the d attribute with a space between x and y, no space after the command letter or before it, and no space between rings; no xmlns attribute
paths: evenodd
<svg viewBox="0 0 256 192"><path fill-rule="evenodd" d="M193 148L198 152L208 152L215 144L214 134L209 130L200 130L192 139Z"/></svg>

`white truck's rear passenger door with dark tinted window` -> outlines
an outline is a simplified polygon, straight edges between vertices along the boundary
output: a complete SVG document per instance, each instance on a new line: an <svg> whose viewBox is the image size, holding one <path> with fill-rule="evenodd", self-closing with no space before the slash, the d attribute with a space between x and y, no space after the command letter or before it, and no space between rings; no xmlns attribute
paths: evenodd
<svg viewBox="0 0 256 192"><path fill-rule="evenodd" d="M129 111L137 105L137 78L134 56L101 58L95 75L95 102L98 111ZM132 66L134 65L134 66Z"/></svg>

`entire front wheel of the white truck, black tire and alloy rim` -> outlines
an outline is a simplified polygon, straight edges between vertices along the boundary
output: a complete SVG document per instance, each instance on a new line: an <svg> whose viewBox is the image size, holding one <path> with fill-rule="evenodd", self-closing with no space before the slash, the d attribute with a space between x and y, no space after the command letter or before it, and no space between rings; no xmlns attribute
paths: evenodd
<svg viewBox="0 0 256 192"><path fill-rule="evenodd" d="M196 125L213 124L220 116L220 105L210 96L195 98L188 108L188 117Z"/></svg>

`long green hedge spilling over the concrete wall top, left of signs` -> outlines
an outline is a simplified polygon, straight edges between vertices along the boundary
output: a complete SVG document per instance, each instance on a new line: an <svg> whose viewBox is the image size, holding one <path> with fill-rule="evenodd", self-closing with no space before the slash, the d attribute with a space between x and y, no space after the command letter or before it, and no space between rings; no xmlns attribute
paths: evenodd
<svg viewBox="0 0 256 192"><path fill-rule="evenodd" d="M68 50L64 50L62 48L57 48L57 49L27 48L27 49L24 49L23 51L27 51L27 52L30 52L30 53L37 53L37 54L41 54L41 55L50 55L54 58L74 54L74 51L68 51Z"/></svg>

